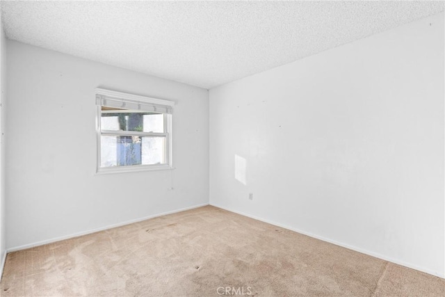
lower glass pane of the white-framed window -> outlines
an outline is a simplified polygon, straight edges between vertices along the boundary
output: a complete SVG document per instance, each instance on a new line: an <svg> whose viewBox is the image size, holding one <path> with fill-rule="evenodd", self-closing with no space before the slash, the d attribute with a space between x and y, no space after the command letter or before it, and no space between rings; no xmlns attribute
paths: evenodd
<svg viewBox="0 0 445 297"><path fill-rule="evenodd" d="M165 163L165 137L101 136L101 166Z"/></svg>

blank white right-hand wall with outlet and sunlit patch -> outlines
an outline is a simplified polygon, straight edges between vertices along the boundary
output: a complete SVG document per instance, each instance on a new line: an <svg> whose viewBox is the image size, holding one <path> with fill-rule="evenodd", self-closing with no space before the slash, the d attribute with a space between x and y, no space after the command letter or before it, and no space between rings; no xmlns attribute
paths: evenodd
<svg viewBox="0 0 445 297"><path fill-rule="evenodd" d="M211 204L444 277L444 13L213 88L210 119Z"/></svg>

